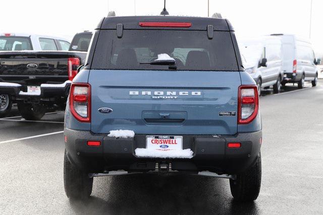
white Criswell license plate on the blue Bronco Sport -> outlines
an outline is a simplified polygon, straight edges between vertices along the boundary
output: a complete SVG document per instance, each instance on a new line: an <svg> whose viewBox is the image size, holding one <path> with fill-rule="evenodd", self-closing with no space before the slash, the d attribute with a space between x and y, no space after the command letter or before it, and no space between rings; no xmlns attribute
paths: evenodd
<svg viewBox="0 0 323 215"><path fill-rule="evenodd" d="M154 150L182 150L183 136L146 136L146 148Z"/></svg>

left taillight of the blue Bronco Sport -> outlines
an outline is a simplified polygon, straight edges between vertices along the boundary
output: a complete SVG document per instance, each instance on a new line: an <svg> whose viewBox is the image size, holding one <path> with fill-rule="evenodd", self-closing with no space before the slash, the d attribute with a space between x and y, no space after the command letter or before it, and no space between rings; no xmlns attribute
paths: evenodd
<svg viewBox="0 0 323 215"><path fill-rule="evenodd" d="M70 110L80 122L91 121L91 86L73 83L70 93Z"/></svg>

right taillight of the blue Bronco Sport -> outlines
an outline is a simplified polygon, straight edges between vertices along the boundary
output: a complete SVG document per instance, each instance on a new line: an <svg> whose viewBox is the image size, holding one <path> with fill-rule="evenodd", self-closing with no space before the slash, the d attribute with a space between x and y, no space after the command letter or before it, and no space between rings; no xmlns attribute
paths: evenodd
<svg viewBox="0 0 323 215"><path fill-rule="evenodd" d="M258 114L259 97L257 86L241 85L238 92L238 124L248 124Z"/></svg>

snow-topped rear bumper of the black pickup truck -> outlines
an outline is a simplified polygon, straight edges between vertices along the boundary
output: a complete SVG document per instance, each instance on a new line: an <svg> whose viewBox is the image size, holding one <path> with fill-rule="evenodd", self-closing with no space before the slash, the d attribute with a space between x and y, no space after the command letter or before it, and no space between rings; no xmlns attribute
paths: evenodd
<svg viewBox="0 0 323 215"><path fill-rule="evenodd" d="M40 93L27 93L26 86L15 83L0 82L0 94L8 94L16 99L23 98L51 98L56 96L67 97L70 92L71 81L63 84L41 84Z"/></svg>

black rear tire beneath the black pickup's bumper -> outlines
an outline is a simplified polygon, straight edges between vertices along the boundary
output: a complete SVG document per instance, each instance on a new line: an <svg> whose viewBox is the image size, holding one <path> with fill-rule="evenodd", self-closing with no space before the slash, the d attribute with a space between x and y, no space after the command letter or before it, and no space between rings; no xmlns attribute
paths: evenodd
<svg viewBox="0 0 323 215"><path fill-rule="evenodd" d="M27 120L39 120L46 113L46 106L44 104L18 102L17 106L21 116Z"/></svg>

